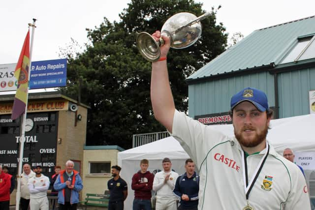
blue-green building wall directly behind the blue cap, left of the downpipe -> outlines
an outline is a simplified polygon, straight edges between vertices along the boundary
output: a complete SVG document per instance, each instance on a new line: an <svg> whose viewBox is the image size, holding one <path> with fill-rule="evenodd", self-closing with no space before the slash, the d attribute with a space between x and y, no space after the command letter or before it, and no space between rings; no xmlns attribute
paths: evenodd
<svg viewBox="0 0 315 210"><path fill-rule="evenodd" d="M189 116L228 112L232 95L246 87L263 90L275 106L274 77L265 71L189 85Z"/></svg>

